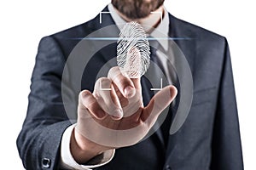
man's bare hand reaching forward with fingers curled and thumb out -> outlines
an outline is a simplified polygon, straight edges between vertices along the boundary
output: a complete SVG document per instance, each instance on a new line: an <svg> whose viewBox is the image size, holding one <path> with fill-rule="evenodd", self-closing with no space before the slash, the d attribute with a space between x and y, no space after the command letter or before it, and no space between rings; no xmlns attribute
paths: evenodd
<svg viewBox="0 0 256 170"><path fill-rule="evenodd" d="M119 67L113 67L108 77L96 81L93 94L88 90L79 94L78 123L71 140L74 158L84 162L105 150L137 144L176 94L174 86L167 86L144 107L140 78L124 77Z"/></svg>

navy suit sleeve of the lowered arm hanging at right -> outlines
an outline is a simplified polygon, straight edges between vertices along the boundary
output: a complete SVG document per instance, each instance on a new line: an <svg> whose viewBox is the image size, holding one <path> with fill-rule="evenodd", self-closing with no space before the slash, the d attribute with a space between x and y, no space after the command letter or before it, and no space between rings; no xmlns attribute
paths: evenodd
<svg viewBox="0 0 256 170"><path fill-rule="evenodd" d="M212 137L211 169L243 169L236 95L227 42L225 42L223 71Z"/></svg>

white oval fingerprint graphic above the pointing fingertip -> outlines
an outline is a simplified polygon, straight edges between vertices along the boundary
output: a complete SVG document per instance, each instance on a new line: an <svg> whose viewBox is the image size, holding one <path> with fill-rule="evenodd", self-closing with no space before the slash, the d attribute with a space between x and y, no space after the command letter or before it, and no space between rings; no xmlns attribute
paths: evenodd
<svg viewBox="0 0 256 170"><path fill-rule="evenodd" d="M119 34L117 64L125 77L139 78L148 70L150 49L146 32L137 22L125 24Z"/></svg>

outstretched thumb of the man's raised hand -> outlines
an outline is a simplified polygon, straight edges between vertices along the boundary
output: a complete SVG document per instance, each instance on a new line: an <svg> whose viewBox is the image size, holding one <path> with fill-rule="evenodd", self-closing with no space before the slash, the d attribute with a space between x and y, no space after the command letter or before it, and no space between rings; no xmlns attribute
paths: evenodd
<svg viewBox="0 0 256 170"><path fill-rule="evenodd" d="M174 86L166 86L161 89L149 101L148 105L144 108L141 119L146 122L149 127L153 126L154 122L162 111L172 103L172 100L177 95L177 88Z"/></svg>

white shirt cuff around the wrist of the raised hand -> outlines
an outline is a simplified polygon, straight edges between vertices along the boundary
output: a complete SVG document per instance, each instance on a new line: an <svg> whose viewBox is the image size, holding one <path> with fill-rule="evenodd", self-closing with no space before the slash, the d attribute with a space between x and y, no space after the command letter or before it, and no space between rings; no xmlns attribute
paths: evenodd
<svg viewBox="0 0 256 170"><path fill-rule="evenodd" d="M88 165L81 165L74 160L71 151L70 151L70 139L73 132L73 128L76 124L67 127L65 132L62 135L61 139L61 168L65 169L81 169L81 170L90 170L94 167L101 167L106 165L109 161L113 159L115 150L107 150L99 156L95 156L90 161L86 162Z"/></svg>

